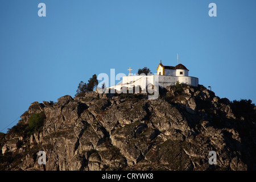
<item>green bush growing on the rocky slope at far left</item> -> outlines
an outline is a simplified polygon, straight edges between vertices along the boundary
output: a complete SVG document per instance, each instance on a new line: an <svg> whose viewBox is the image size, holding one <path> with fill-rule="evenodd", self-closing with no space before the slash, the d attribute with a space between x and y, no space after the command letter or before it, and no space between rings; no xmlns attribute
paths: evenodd
<svg viewBox="0 0 256 182"><path fill-rule="evenodd" d="M34 134L36 131L39 131L43 127L44 119L46 115L42 113L34 113L28 118L28 125L25 128L25 131L28 135Z"/></svg>

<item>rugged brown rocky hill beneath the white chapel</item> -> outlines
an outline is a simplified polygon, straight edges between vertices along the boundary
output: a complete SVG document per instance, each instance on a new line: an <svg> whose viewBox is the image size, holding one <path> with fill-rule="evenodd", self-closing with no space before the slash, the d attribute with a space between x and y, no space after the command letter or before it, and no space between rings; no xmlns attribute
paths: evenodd
<svg viewBox="0 0 256 182"><path fill-rule="evenodd" d="M90 92L34 102L0 135L0 169L255 170L255 108L242 115L232 109L202 85L160 89L158 100ZM35 113L44 114L43 126L27 134ZM39 151L46 152L45 165L38 164Z"/></svg>

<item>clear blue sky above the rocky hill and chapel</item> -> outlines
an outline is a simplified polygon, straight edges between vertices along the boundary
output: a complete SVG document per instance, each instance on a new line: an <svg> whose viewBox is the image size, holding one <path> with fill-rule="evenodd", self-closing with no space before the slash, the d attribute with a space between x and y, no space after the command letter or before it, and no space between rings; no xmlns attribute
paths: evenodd
<svg viewBox="0 0 256 182"><path fill-rule="evenodd" d="M46 17L38 16L41 2ZM208 15L211 2L217 17ZM0 131L31 102L73 97L94 73L156 73L160 59L175 66L177 53L217 96L255 103L255 7L255 0L0 0Z"/></svg>

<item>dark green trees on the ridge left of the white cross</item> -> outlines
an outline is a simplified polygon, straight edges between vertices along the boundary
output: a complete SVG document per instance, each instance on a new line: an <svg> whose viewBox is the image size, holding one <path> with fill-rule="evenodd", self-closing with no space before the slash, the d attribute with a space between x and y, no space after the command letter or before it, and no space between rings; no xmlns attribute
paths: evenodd
<svg viewBox="0 0 256 182"><path fill-rule="evenodd" d="M98 85L97 76L94 74L92 78L88 80L88 84L83 81L80 82L79 86L77 86L76 94L77 97L82 97L86 92L92 92L94 88Z"/></svg>

